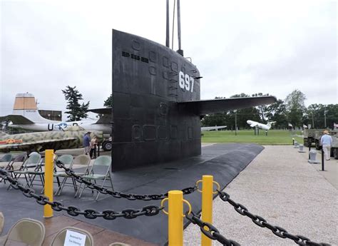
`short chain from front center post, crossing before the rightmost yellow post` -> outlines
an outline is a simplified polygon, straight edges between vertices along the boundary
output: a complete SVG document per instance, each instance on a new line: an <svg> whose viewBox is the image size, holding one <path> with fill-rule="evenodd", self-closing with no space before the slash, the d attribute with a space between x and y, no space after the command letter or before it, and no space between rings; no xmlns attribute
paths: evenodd
<svg viewBox="0 0 338 246"><path fill-rule="evenodd" d="M198 225L200 227L200 231L203 232L203 234L209 237L211 240L217 240L218 242L222 243L222 245L227 246L240 245L238 242L235 242L234 240L229 240L224 236L220 235L220 232L217 230L216 227L214 227L208 222L200 220L200 217L196 216L194 212L191 212L191 215L189 215L189 213L186 212L185 217L194 225Z"/></svg>

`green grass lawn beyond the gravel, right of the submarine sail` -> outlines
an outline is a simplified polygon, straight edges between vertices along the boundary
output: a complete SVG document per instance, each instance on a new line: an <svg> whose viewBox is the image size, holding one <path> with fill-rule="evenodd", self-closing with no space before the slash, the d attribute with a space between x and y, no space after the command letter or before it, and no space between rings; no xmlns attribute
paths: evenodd
<svg viewBox="0 0 338 246"><path fill-rule="evenodd" d="M202 143L258 143L260 145L292 145L292 138L298 143L303 143L300 131L289 130L260 130L260 135L255 135L254 130L210 130L203 131ZM295 135L297 134L297 135Z"/></svg>

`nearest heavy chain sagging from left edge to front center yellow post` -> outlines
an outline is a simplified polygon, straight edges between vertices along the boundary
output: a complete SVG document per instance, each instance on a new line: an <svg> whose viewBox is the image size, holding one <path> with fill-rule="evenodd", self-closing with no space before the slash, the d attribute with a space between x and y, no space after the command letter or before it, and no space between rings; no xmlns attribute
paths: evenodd
<svg viewBox="0 0 338 246"><path fill-rule="evenodd" d="M25 188L24 185L18 182L18 180L11 177L11 175L4 170L3 168L0 168L0 178L4 178L4 180L8 180L9 183L11 183L11 187L15 190L21 190L23 195L25 195L27 198L35 198L36 203L39 203L40 205L51 205L51 208L54 211L60 212L61 210L66 211L68 215L71 216L78 216L83 215L87 219L96 219L97 217L103 217L105 220L115 220L117 217L124 217L126 219L133 219L138 216L154 216L158 215L160 210L163 210L163 207L158 207L155 205L148 205L145 207L142 207L141 209L134 210L134 209L126 209L122 210L121 212L116 212L114 210L103 210L102 212L98 212L93 209L86 209L86 210L80 210L78 207L74 206L63 206L63 203L58 201L50 202L49 199L45 195L37 195L35 190L32 188Z"/></svg>

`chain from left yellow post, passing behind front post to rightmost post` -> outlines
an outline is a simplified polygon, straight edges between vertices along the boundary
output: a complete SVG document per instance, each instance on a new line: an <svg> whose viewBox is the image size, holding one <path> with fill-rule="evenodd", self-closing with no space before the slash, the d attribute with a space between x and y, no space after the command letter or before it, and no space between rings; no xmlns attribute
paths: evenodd
<svg viewBox="0 0 338 246"><path fill-rule="evenodd" d="M71 168L67 168L60 161L56 161L56 165L58 166L58 168L63 168L67 175L75 178L76 182L83 183L87 185L88 188L91 188L91 190L97 190L99 193L102 193L105 195L107 194L112 195L114 198L126 198L128 200L145 200L145 201L163 200L164 198L168 198L168 193L153 194L153 195L137 195L137 194L126 194L126 193L121 193L119 191L108 190L107 188L101 188L99 185L96 185L95 183L91 183L85 178L82 178L81 176L76 175L76 173ZM188 195L190 193L195 192L195 190L197 190L197 186L184 188L182 192L183 192L183 195Z"/></svg>

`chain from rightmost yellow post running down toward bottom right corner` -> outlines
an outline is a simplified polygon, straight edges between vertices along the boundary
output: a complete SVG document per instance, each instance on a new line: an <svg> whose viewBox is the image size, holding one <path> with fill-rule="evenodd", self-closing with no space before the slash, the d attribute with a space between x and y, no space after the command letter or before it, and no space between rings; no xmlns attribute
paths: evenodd
<svg viewBox="0 0 338 246"><path fill-rule="evenodd" d="M312 242L311 240L309 240L309 238L301 236L301 235L292 235L282 227L269 224L264 218L260 217L259 215L252 215L252 213L249 212L245 206L243 206L240 203L236 203L234 200L231 200L230 195L225 193L224 191L217 190L217 192L218 192L218 195L220 195L220 199L222 199L223 201L227 203L230 203L230 205L232 205L235 208L235 210L238 213L240 213L240 215L250 217L252 222L254 222L256 225L260 227L267 227L268 229L272 231L273 234L277 235L278 237L289 238L291 240L294 240L295 243L297 243L297 245L313 245L313 246L329 245L324 242L320 242L320 243Z"/></svg>

